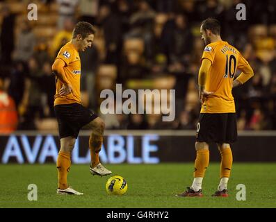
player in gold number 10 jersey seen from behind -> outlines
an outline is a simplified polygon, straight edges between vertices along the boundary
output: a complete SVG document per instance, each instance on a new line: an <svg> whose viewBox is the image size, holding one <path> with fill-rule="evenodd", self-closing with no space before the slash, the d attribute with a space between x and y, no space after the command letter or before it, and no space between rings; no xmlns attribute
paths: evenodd
<svg viewBox="0 0 276 222"><path fill-rule="evenodd" d="M232 88L243 85L254 74L247 60L220 37L220 23L208 18L200 27L204 48L198 85L202 103L195 142L193 184L177 196L202 196L202 180L209 165L209 143L215 142L221 155L220 184L213 196L228 196L227 182L232 169L230 143L236 141L236 110ZM241 74L234 80L236 71Z"/></svg>

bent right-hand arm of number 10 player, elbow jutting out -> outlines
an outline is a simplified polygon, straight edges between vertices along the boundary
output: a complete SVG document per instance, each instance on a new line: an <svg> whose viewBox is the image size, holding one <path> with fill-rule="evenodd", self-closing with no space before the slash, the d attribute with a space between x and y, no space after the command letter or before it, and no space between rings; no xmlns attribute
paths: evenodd
<svg viewBox="0 0 276 222"><path fill-rule="evenodd" d="M233 87L237 87L238 85L243 85L247 82L252 76L254 76L254 71L252 67L250 67L249 63L243 56L240 55L240 59L238 60L238 67L242 73L236 78L233 82Z"/></svg>

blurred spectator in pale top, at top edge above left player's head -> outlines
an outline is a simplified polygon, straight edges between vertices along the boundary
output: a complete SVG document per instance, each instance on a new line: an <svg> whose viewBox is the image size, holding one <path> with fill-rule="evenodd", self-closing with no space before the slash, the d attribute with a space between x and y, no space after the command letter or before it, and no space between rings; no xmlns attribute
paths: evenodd
<svg viewBox="0 0 276 222"><path fill-rule="evenodd" d="M65 28L65 20L73 20L79 0L56 0L58 3L58 30Z"/></svg>

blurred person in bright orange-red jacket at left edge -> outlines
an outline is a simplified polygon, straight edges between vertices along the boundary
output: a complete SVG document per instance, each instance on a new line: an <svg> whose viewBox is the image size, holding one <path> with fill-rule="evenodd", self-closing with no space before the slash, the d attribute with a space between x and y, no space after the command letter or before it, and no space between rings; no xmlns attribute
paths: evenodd
<svg viewBox="0 0 276 222"><path fill-rule="evenodd" d="M13 133L17 122L15 102L3 91L3 80L0 78L0 133Z"/></svg>

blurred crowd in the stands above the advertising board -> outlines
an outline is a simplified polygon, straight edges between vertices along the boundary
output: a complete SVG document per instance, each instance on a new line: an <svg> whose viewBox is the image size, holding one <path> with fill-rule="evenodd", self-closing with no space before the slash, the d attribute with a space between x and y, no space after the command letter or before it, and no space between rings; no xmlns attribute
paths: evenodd
<svg viewBox="0 0 276 222"><path fill-rule="evenodd" d="M37 21L26 19L28 3L38 6ZM236 19L238 3L245 3L246 20ZM80 53L83 105L107 129L195 130L200 23L207 17L219 19L222 40L254 70L233 90L238 130L276 130L276 1L11 0L0 6L0 132L57 129L51 65L78 21L97 28L92 49ZM102 114L100 92L116 83L175 89L174 121L163 122L161 114Z"/></svg>

